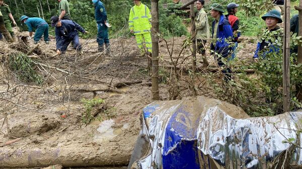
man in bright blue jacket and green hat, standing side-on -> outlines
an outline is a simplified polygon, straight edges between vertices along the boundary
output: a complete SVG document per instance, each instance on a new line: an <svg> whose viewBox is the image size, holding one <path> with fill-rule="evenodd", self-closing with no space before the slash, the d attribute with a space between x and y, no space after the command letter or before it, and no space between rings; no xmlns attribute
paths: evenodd
<svg viewBox="0 0 302 169"><path fill-rule="evenodd" d="M214 18L212 23L212 39L215 42L211 43L211 50L218 55L215 55L219 67L224 67L222 58L227 58L230 52L230 44L228 41L232 40L233 31L228 19L225 18L223 8L221 5L214 3L210 8L211 17ZM226 75L226 81L231 79L231 69L223 68L222 73Z"/></svg>

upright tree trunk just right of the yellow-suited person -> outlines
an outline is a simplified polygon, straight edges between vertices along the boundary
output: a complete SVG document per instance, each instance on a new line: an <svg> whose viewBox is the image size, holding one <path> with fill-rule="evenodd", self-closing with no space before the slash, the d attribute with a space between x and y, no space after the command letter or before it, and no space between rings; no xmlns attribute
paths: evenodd
<svg viewBox="0 0 302 169"><path fill-rule="evenodd" d="M159 0L151 0L152 13L152 94L159 100Z"/></svg>

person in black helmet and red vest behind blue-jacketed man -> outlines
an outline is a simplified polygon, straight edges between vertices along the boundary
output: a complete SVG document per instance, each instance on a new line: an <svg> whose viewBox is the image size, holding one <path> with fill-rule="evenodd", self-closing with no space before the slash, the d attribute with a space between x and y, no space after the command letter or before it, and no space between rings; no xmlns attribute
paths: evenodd
<svg viewBox="0 0 302 169"><path fill-rule="evenodd" d="M236 48L238 46L238 38L240 37L240 33L237 32L239 29L239 19L236 17L236 13L238 12L238 4L230 3L228 6L226 6L226 10L228 10L228 15L225 15L226 19L229 20L229 23L233 30L233 36L234 36L234 44L232 46L232 58L233 60L236 57Z"/></svg>

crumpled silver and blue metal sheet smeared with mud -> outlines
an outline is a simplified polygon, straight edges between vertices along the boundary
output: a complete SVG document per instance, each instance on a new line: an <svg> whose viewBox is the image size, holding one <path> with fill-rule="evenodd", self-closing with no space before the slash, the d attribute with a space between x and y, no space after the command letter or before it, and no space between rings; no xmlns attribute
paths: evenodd
<svg viewBox="0 0 302 169"><path fill-rule="evenodd" d="M295 130L302 112L248 117L234 105L205 97L158 101L143 112L150 147L134 168L264 169L281 163L290 147L291 164L302 163L301 149L282 142L294 138L301 145Z"/></svg>

